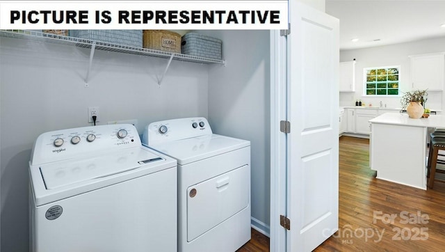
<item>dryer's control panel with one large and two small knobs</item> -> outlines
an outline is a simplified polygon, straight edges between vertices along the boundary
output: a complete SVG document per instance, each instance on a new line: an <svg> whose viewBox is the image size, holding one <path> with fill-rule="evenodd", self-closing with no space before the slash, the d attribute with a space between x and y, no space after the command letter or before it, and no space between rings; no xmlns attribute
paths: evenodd
<svg viewBox="0 0 445 252"><path fill-rule="evenodd" d="M148 146L211 134L209 122L204 117L163 120L145 126L142 143Z"/></svg>

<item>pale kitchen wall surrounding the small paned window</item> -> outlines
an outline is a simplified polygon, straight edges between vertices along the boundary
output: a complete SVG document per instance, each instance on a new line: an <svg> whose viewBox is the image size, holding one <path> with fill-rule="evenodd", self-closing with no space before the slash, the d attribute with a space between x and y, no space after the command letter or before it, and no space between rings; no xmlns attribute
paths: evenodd
<svg viewBox="0 0 445 252"><path fill-rule="evenodd" d="M363 68L372 68L387 65L401 66L402 92L410 91L410 55L445 52L445 37L406 42L396 45L371 47L365 49L344 50L340 52L340 62L357 59L355 64L355 93L340 93L340 106L354 106L359 99L369 104L378 105L380 100L387 107L401 107L401 97L365 97L363 96ZM428 91L427 107L430 109L442 109L445 111L445 102L442 92Z"/></svg>

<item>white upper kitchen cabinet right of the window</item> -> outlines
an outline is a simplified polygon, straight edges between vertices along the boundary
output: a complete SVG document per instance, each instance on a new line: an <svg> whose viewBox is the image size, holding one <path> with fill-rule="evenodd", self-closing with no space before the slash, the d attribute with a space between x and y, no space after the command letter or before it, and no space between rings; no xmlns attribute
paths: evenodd
<svg viewBox="0 0 445 252"><path fill-rule="evenodd" d="M411 88L444 90L445 53L410 56Z"/></svg>

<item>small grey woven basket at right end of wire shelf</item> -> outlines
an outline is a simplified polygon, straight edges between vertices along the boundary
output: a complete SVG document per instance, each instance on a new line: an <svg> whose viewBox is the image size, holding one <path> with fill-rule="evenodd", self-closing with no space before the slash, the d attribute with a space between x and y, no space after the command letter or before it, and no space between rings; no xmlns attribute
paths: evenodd
<svg viewBox="0 0 445 252"><path fill-rule="evenodd" d="M218 38L198 33L187 33L182 36L181 52L193 56L221 59L222 44L223 42Z"/></svg>

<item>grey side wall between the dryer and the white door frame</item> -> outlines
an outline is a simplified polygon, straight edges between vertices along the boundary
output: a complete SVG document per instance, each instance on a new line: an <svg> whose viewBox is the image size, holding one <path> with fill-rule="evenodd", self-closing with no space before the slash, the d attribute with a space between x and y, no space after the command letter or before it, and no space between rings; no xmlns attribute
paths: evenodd
<svg viewBox="0 0 445 252"><path fill-rule="evenodd" d="M208 31L224 38L225 68L209 68L209 120L216 134L249 140L252 223L270 223L270 31Z"/></svg>

